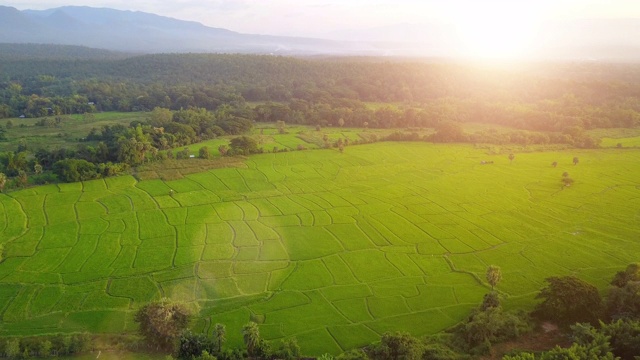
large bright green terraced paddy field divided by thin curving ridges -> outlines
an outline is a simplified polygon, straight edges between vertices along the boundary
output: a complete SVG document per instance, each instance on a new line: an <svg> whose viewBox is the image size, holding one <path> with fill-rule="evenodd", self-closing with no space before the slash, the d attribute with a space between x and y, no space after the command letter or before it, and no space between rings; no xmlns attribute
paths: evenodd
<svg viewBox="0 0 640 360"><path fill-rule="evenodd" d="M640 258L638 164L631 149L510 164L472 146L377 143L0 195L0 334L133 332L139 306L170 297L198 309L196 330L226 324L230 346L253 320L318 355L454 325L488 291L490 264L512 308L552 275L605 289Z"/></svg>

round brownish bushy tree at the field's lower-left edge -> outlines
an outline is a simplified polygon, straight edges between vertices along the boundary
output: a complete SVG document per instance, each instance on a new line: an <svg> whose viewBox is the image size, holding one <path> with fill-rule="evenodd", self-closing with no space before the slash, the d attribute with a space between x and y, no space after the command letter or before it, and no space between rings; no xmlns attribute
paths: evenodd
<svg viewBox="0 0 640 360"><path fill-rule="evenodd" d="M140 324L140 334L149 346L171 352L189 325L190 316L190 311L183 304L163 299L141 307L134 320Z"/></svg>

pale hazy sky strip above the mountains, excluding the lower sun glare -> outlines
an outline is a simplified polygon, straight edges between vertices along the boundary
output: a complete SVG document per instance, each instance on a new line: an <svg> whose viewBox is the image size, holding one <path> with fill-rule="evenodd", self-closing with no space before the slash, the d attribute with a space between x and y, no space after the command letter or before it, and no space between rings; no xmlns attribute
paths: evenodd
<svg viewBox="0 0 640 360"><path fill-rule="evenodd" d="M336 30L439 21L457 25L500 15L512 22L640 18L640 0L18 0L5 6L65 5L137 10L244 33L322 36Z"/></svg>

